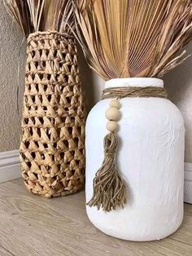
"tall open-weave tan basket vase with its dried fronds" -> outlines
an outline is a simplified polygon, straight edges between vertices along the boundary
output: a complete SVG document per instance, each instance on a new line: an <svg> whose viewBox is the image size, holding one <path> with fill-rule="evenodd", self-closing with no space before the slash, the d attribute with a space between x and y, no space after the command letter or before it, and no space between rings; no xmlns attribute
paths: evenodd
<svg viewBox="0 0 192 256"><path fill-rule="evenodd" d="M50 198L84 183L85 108L72 2L5 0L27 38L20 159L30 192Z"/></svg>

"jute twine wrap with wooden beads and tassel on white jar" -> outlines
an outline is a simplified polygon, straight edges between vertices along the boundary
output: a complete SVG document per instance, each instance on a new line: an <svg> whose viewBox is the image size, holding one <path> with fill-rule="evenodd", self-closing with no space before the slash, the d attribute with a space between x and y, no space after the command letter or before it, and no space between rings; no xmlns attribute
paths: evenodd
<svg viewBox="0 0 192 256"><path fill-rule="evenodd" d="M120 119L120 99L125 97L135 98L167 98L164 88L156 86L147 87L113 87L103 90L103 99L113 99L110 108L107 109L106 117L109 120L107 130L110 131L104 138L103 165L97 171L94 178L94 194L87 203L89 206L97 206L98 210L110 212L117 207L124 208L127 199L127 189L120 172L116 167L116 152L118 149L118 125Z"/></svg>

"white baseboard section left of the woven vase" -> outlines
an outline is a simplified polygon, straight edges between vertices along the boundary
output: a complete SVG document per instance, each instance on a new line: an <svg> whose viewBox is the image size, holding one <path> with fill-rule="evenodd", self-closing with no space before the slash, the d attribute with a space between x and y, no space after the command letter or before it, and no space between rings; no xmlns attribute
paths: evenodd
<svg viewBox="0 0 192 256"><path fill-rule="evenodd" d="M19 151L0 152L0 183L21 177Z"/></svg>

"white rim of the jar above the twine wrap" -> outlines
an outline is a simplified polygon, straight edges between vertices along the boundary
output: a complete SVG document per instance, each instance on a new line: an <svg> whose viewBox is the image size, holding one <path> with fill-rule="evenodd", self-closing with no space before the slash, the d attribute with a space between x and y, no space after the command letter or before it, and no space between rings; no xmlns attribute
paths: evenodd
<svg viewBox="0 0 192 256"><path fill-rule="evenodd" d="M131 77L131 78L116 78L105 82L105 89L113 87L148 87L154 86L164 88L164 81L153 77Z"/></svg>

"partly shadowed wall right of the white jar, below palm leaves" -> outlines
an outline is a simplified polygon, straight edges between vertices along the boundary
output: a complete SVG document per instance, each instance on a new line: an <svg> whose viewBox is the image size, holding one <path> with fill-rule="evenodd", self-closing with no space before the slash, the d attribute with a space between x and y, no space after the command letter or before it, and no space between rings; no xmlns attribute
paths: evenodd
<svg viewBox="0 0 192 256"><path fill-rule="evenodd" d="M192 53L192 43L185 47ZM181 110L185 120L185 161L192 162L192 56L164 77L168 98Z"/></svg>

